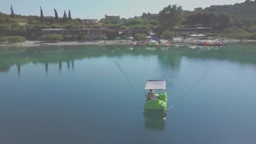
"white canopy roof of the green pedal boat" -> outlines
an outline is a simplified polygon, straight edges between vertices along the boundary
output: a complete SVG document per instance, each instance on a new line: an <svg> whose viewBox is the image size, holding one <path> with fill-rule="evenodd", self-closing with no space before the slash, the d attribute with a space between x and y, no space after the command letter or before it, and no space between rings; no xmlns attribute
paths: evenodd
<svg viewBox="0 0 256 144"><path fill-rule="evenodd" d="M148 80L145 86L145 90L149 89L164 89L166 88L166 83L164 80Z"/></svg>

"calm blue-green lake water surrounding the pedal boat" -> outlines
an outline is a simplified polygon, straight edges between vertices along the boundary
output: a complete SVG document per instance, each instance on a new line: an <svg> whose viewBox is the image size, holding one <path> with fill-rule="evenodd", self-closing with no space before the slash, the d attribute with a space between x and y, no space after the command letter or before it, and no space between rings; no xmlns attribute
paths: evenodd
<svg viewBox="0 0 256 144"><path fill-rule="evenodd" d="M255 144L256 43L194 48L1 47L0 144Z"/></svg>

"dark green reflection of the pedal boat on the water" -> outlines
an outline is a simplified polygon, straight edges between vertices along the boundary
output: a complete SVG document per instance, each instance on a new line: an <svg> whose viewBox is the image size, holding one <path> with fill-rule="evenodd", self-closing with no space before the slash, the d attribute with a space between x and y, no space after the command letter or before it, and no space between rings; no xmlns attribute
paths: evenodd
<svg viewBox="0 0 256 144"><path fill-rule="evenodd" d="M166 111L147 111L143 112L145 117L144 127L153 131L164 131L165 120L167 117Z"/></svg>

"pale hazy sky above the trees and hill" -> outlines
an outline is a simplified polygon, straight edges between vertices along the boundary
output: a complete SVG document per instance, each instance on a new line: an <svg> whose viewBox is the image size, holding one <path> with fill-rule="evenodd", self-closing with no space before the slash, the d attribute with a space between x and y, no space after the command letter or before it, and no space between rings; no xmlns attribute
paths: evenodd
<svg viewBox="0 0 256 144"><path fill-rule="evenodd" d="M65 2L63 2L65 1ZM21 15L40 15L40 6L44 16L54 16L56 9L59 16L71 10L72 17L101 19L104 14L121 17L140 16L143 12L159 13L168 4L178 4L183 10L194 10L195 7L209 7L213 4L234 4L245 0L0 0L0 11Z"/></svg>

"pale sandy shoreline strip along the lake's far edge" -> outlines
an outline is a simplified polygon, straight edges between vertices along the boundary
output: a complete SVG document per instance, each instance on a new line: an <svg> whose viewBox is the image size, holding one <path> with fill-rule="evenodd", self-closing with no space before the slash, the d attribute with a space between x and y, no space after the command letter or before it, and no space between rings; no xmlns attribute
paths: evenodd
<svg viewBox="0 0 256 144"><path fill-rule="evenodd" d="M208 39L205 39L207 41ZM209 39L210 40L210 39ZM209 41L208 40L208 41ZM199 39L197 41L200 41ZM239 39L225 39L219 40L220 43L237 43L237 42L256 42L256 40L239 40ZM171 42L171 45L190 45L189 40L187 39L174 39ZM130 43L138 43L139 45L146 46L147 43L143 43L140 41L128 41L128 40L102 40L102 41L95 41L95 42L58 42L58 43L47 43L42 41L26 41L22 43L0 43L0 47L37 47L37 46L130 46Z"/></svg>

